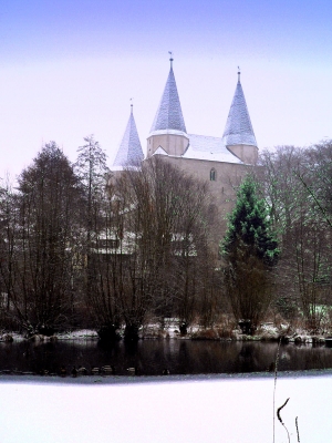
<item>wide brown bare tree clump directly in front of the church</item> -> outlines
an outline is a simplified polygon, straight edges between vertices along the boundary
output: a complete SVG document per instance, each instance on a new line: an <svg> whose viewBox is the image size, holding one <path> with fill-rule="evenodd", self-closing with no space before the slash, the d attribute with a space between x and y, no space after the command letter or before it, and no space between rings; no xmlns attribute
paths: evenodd
<svg viewBox="0 0 332 443"><path fill-rule="evenodd" d="M160 158L128 168L120 183L131 249L121 298L125 333L137 337L148 312L162 323L176 315L185 332L201 297L199 260L209 257L206 185Z"/></svg>

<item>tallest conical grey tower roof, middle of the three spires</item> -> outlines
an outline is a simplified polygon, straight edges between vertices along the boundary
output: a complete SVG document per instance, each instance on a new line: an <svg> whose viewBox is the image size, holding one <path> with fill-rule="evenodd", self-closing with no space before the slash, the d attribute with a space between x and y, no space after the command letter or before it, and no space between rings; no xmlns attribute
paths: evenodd
<svg viewBox="0 0 332 443"><path fill-rule="evenodd" d="M170 59L168 79L151 132L166 130L187 132L173 72L173 59Z"/></svg>

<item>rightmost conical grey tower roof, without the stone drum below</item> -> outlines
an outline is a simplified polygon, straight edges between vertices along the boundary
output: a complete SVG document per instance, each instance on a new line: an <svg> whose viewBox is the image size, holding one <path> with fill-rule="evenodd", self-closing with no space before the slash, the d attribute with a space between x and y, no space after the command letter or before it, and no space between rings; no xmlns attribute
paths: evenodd
<svg viewBox="0 0 332 443"><path fill-rule="evenodd" d="M222 141L226 146L257 146L239 72L238 84L229 110Z"/></svg>

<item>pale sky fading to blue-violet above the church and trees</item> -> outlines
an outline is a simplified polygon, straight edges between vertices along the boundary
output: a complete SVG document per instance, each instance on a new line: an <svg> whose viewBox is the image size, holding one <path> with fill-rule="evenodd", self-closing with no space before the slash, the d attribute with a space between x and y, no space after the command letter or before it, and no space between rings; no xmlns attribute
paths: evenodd
<svg viewBox="0 0 332 443"><path fill-rule="evenodd" d="M0 177L94 134L112 165L131 99L146 148L174 53L188 133L222 136L238 66L259 148L332 138L330 0L0 0Z"/></svg>

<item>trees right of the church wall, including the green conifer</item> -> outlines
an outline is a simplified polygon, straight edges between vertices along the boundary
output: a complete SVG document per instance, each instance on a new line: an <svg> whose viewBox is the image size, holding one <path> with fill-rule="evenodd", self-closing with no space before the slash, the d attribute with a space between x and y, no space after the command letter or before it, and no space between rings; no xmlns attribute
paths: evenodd
<svg viewBox="0 0 332 443"><path fill-rule="evenodd" d="M332 320L332 142L279 146L238 189L221 243L234 316L255 331L267 315L317 333Z"/></svg>

